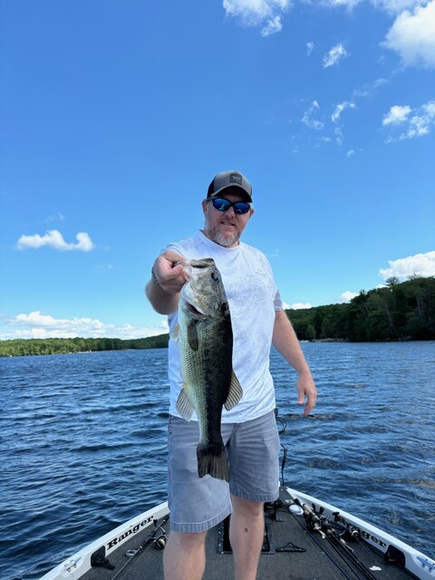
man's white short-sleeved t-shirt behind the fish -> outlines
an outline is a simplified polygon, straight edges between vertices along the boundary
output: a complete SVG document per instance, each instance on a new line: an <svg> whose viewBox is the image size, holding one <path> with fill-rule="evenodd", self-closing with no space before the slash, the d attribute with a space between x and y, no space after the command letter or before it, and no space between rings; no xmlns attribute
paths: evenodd
<svg viewBox="0 0 435 580"><path fill-rule="evenodd" d="M269 353L275 311L283 310L283 303L266 256L243 243L237 247L219 246L200 231L196 236L169 244L167 249L188 260L212 257L222 275L233 328L233 370L243 389L241 401L231 411L223 409L222 422L244 422L274 410ZM170 335L178 323L178 312L168 316L168 323ZM173 340L169 340L169 383L169 412L179 417L176 402L183 380L179 344Z"/></svg>

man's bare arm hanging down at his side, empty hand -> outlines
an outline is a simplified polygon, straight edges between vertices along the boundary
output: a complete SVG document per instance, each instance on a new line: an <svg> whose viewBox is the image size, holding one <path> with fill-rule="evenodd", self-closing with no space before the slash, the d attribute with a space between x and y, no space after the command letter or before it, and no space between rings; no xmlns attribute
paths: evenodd
<svg viewBox="0 0 435 580"><path fill-rule="evenodd" d="M276 350L284 356L285 360L293 366L299 375L297 379L297 402L299 405L303 405L306 397L304 406L304 415L306 417L314 409L317 390L310 367L297 340L295 330L284 310L277 310L275 313L272 342Z"/></svg>

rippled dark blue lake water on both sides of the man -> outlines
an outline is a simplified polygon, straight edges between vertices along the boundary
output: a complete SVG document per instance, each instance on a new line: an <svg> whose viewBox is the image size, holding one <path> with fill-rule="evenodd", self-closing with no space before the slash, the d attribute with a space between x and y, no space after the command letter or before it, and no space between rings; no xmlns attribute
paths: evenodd
<svg viewBox="0 0 435 580"><path fill-rule="evenodd" d="M319 397L271 354L285 483L435 556L435 343L304 343ZM33 580L166 499L167 351L0 359L0 578Z"/></svg>

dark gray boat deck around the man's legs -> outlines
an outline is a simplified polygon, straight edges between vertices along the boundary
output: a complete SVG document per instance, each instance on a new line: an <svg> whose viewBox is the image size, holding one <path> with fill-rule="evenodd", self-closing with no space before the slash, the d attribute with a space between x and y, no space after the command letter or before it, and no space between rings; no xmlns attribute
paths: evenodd
<svg viewBox="0 0 435 580"><path fill-rule="evenodd" d="M282 491L283 493L283 491ZM283 499L284 501L284 499ZM349 551L322 538L317 532L306 529L303 516L296 516L281 504L281 507L266 506L265 543L258 565L258 580L361 580L371 577L351 557ZM159 526L160 526L159 522ZM169 531L169 522L162 528ZM158 529L155 538L162 529ZM109 570L103 566L93 567L83 580L144 580L163 578L163 551L156 549L156 543L149 541L150 530L142 536L136 535L113 553L109 561L115 567ZM379 580L410 578L409 572L400 565L385 563L383 556L365 543L347 540L353 549L353 556L369 570L372 578ZM280 551L291 543L304 551ZM128 551L136 552L128 556ZM292 546L288 546L292 548ZM234 577L233 558L227 540L227 524L221 524L208 532L207 565L204 580L230 580ZM189 580L189 579L186 579Z"/></svg>

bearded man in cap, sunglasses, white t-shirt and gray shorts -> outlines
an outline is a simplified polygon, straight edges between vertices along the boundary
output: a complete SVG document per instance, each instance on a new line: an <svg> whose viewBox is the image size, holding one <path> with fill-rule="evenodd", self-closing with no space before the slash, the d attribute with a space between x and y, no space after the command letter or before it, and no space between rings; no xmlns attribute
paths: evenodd
<svg viewBox="0 0 435 580"><path fill-rule="evenodd" d="M169 507L171 532L165 548L166 580L199 580L205 569L207 530L229 513L229 537L237 580L256 578L264 535L264 502L278 497L279 439L275 390L269 372L271 343L298 373L297 402L304 415L313 410L316 389L290 321L283 309L266 256L240 242L254 214L252 188L238 171L219 173L202 202L204 229L170 244L157 257L146 294L154 309L177 324L179 292L186 282L177 260L212 257L222 275L233 327L233 369L243 389L241 401L222 413L229 486L198 478L198 422L179 417L182 387L179 346L169 341Z"/></svg>

